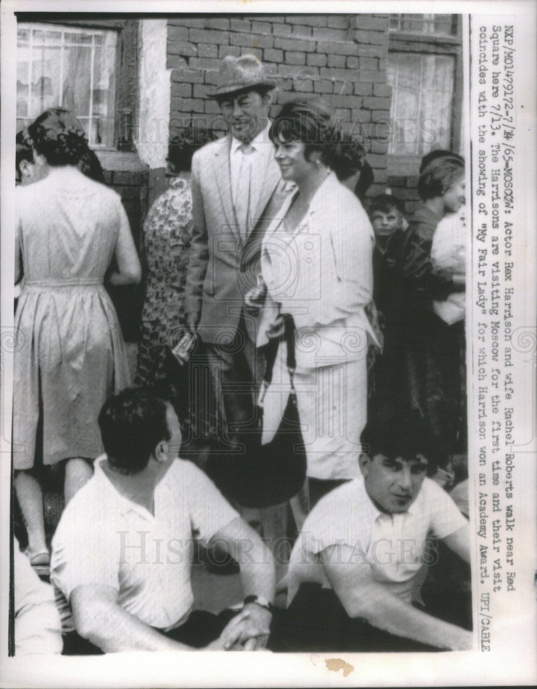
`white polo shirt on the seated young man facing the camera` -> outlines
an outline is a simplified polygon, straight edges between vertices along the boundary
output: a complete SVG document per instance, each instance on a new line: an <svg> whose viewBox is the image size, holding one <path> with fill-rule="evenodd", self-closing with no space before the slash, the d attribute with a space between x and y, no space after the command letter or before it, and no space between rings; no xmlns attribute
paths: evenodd
<svg viewBox="0 0 537 689"><path fill-rule="evenodd" d="M325 495L305 520L290 558L288 602L302 582L331 588L318 555L336 544L353 548L342 567L352 572L367 562L376 582L411 602L427 537L445 538L465 524L451 497L429 478L406 512L387 515L374 506L360 476Z"/></svg>

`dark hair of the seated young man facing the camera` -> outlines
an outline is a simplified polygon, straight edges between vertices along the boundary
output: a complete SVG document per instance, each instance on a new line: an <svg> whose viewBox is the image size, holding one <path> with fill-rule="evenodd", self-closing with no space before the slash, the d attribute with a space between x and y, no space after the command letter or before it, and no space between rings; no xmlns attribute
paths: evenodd
<svg viewBox="0 0 537 689"><path fill-rule="evenodd" d="M427 459L429 475L439 464L445 464L429 424L418 409L377 411L367 420L360 439L363 453L371 460L379 454L390 459L402 457L407 461L423 455Z"/></svg>

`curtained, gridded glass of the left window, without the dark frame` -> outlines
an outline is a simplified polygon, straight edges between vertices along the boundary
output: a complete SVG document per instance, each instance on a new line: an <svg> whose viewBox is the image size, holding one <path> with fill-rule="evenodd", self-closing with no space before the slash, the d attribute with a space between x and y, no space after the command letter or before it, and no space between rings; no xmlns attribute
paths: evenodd
<svg viewBox="0 0 537 689"><path fill-rule="evenodd" d="M17 118L31 121L48 107L65 107L90 145L111 146L117 33L21 23L17 28Z"/></svg>

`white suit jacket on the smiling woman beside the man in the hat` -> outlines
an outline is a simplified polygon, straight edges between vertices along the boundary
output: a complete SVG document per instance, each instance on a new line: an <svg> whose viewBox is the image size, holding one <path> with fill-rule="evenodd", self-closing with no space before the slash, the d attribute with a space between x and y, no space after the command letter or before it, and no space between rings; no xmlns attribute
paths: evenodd
<svg viewBox="0 0 537 689"><path fill-rule="evenodd" d="M330 172L290 234L282 218L293 196L263 238L261 270L268 298L257 345L265 343L266 327L279 308L294 318L298 366L358 360L366 356L369 339L376 342L364 311L373 291L369 218L356 196Z"/></svg>

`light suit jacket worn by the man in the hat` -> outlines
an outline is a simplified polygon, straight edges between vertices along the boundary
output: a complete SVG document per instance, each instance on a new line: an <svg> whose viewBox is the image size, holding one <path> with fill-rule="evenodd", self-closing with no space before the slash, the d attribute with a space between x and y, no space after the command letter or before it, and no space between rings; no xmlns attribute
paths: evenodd
<svg viewBox="0 0 537 689"><path fill-rule="evenodd" d="M205 342L222 342L236 333L244 296L256 284L263 234L287 195L271 154L260 177L259 200L251 209L250 232L243 238L235 217L230 170L231 135L212 141L192 158L193 234L185 285L185 313L200 313ZM245 313L250 338L256 318ZM223 339L222 339L223 338Z"/></svg>

